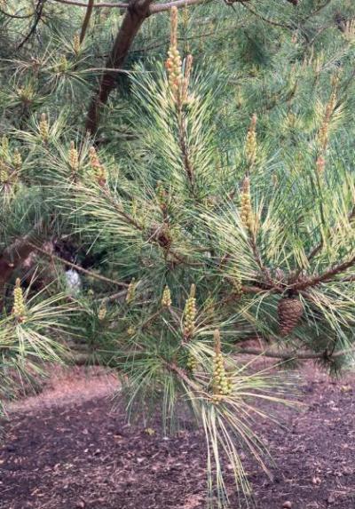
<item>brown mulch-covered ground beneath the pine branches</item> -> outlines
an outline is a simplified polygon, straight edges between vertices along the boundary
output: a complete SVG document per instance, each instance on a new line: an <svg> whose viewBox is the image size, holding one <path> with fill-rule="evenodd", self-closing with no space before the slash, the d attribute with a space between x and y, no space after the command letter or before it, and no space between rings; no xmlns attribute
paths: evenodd
<svg viewBox="0 0 355 509"><path fill-rule="evenodd" d="M355 377L334 380L312 365L301 375L304 406L279 408L280 426L259 423L271 476L246 460L256 507L354 509ZM77 370L12 406L0 444L1 509L206 507L201 433L169 438L158 425L127 425L112 408L114 386L112 376Z"/></svg>

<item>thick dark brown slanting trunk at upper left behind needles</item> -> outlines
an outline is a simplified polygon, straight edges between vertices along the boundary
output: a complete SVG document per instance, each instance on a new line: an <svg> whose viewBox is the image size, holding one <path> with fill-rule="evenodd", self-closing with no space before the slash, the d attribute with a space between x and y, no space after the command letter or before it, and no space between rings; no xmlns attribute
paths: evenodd
<svg viewBox="0 0 355 509"><path fill-rule="evenodd" d="M116 82L115 69L122 67L139 28L149 15L149 6L152 1L130 0L130 7L127 9L121 28L114 40L112 51L106 60L106 71L101 78L99 91L91 100L86 118L86 130L90 131L92 135L98 131L100 109L106 104L108 96L114 89Z"/></svg>

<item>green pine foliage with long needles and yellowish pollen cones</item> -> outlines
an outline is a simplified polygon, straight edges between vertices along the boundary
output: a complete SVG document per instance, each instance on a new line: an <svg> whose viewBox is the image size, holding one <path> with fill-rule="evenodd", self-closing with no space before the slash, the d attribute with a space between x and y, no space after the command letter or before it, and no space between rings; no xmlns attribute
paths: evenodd
<svg viewBox="0 0 355 509"><path fill-rule="evenodd" d="M32 18L9 18L8 4L0 263L18 265L2 288L1 389L36 355L62 357L52 341L65 342L75 308L71 332L91 362L119 369L129 413L160 409L174 428L191 410L207 436L209 487L226 505L224 461L243 493L241 448L264 461L255 401L288 391L233 354L242 342L333 370L351 361L355 9L346 0L185 8L172 70L162 65L169 14L152 16L91 139L84 113L119 11L97 9L79 45L83 9L47 2L18 51ZM26 15L32 3L20 4ZM56 245L75 253L72 265L53 256ZM53 310L73 262L82 286ZM20 314L16 277L41 303Z"/></svg>

